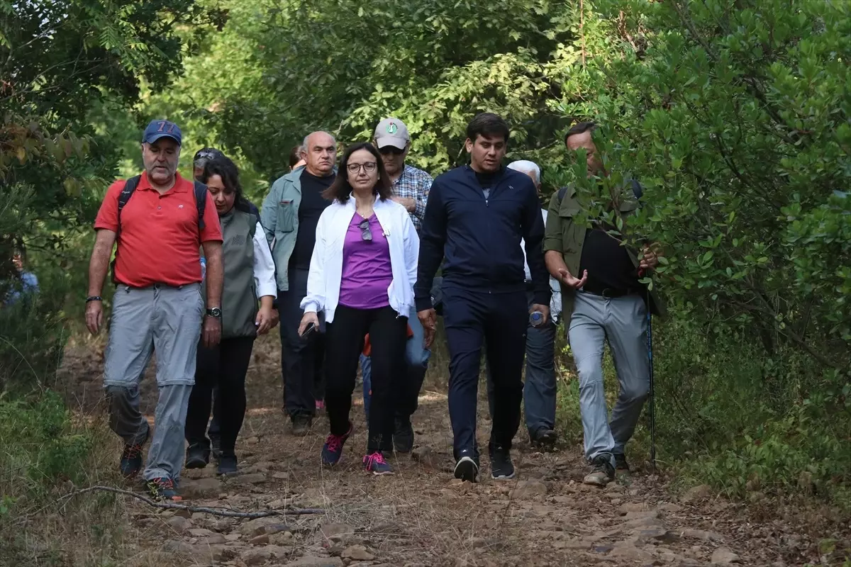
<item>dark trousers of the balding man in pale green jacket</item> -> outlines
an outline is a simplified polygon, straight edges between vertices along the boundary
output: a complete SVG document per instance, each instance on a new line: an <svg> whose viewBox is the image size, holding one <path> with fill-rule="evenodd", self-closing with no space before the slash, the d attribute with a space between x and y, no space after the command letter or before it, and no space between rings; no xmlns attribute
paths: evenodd
<svg viewBox="0 0 851 567"><path fill-rule="evenodd" d="M313 416L316 400L322 400L325 335L311 332L299 336L304 311L301 300L307 294L307 270L289 270L289 290L278 292L281 314L281 371L283 373L283 411L290 417Z"/></svg>

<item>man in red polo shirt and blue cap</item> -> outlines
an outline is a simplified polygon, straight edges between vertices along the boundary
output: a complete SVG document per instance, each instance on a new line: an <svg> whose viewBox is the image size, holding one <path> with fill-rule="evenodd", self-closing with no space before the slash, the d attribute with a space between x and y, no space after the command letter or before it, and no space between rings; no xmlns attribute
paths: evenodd
<svg viewBox="0 0 851 567"><path fill-rule="evenodd" d="M139 411L139 381L156 351L159 401L143 476L151 494L166 500L180 500L176 486L198 337L214 346L221 336L219 216L213 200L207 199L203 222L198 218L194 184L177 173L180 141L176 124L152 121L142 136L145 172L120 211L119 196L127 182L117 181L107 190L94 221L97 237L86 298L86 326L96 334L103 322L100 292L117 242L116 292L104 367L110 425L124 440L121 472L134 476L150 434ZM207 258L206 316L199 246Z"/></svg>

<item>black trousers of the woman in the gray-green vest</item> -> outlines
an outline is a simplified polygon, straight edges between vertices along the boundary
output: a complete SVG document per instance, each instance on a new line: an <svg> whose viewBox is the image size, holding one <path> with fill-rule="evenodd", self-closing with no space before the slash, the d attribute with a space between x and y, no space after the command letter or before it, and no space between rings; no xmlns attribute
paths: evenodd
<svg viewBox="0 0 851 567"><path fill-rule="evenodd" d="M218 386L216 403L221 436L221 452L232 456L245 418L245 374L251 361L254 337L224 338L214 349L198 344L195 385L186 410L186 441L209 447L207 421Z"/></svg>

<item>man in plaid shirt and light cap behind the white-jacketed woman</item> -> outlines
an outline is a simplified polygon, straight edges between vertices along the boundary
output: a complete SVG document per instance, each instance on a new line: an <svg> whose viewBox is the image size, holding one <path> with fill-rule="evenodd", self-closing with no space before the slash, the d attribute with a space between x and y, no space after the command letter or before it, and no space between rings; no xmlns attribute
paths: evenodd
<svg viewBox="0 0 851 567"><path fill-rule="evenodd" d="M408 209L417 232L422 226L426 214L426 201L431 190L431 175L421 169L405 163L408 150L411 149L411 137L408 127L396 118L385 118L375 127L373 143L378 148L384 162L387 175L393 187L393 201ZM399 393L396 410L396 428L393 433L393 446L397 452L408 453L414 448L414 428L411 416L417 409L417 398L423 379L426 377L431 351L426 349L423 327L417 317L416 309L411 309L408 325L414 335L408 338L405 351L408 362L408 375ZM363 407L369 413L370 360L361 356L363 371Z"/></svg>

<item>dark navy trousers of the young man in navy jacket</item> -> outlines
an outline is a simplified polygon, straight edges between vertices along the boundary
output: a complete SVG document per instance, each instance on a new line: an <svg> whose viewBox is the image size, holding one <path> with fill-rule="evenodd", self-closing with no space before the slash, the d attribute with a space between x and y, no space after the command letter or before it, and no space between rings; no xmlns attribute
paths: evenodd
<svg viewBox="0 0 851 567"><path fill-rule="evenodd" d="M494 382L490 445L510 449L523 401L526 293L460 289L444 281L443 326L450 357L449 418L455 458L478 456L476 410L483 345Z"/></svg>

